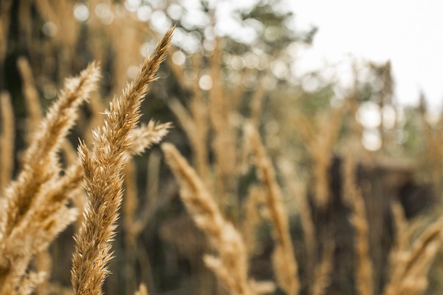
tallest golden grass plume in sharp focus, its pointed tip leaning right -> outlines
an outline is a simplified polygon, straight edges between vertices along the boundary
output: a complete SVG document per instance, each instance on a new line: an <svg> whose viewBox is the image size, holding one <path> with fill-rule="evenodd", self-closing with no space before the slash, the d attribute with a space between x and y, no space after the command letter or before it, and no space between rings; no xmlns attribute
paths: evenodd
<svg viewBox="0 0 443 295"><path fill-rule="evenodd" d="M131 144L131 131L141 116L141 102L148 85L157 78L156 72L166 57L173 30L170 28L157 44L152 57L145 59L136 79L110 103L105 124L94 132L93 151L89 151L84 142L79 146L89 198L84 207L84 222L75 235L72 258L71 281L77 295L102 294L122 201L125 153Z"/></svg>

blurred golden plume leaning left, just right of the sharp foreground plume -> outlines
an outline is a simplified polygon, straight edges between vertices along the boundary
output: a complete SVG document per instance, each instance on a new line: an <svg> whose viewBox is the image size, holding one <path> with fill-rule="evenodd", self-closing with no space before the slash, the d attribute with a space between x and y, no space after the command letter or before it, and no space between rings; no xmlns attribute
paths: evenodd
<svg viewBox="0 0 443 295"><path fill-rule="evenodd" d="M197 227L210 239L219 256L205 256L206 265L228 287L232 294L251 294L248 285L248 261L242 236L226 221L213 196L199 179L194 169L172 144L161 148L180 184L183 203Z"/></svg>

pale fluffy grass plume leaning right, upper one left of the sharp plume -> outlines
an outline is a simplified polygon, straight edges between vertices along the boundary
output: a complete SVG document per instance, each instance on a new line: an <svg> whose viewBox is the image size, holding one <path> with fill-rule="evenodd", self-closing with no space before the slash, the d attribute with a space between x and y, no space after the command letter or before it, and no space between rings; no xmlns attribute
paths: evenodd
<svg viewBox="0 0 443 295"><path fill-rule="evenodd" d="M67 79L64 91L51 106L45 119L35 133L33 142L24 155L24 169L7 191L3 204L8 212L0 222L0 240L8 236L12 227L30 207L39 186L59 172L57 151L77 117L76 108L96 88L98 67L91 64L80 76Z"/></svg>

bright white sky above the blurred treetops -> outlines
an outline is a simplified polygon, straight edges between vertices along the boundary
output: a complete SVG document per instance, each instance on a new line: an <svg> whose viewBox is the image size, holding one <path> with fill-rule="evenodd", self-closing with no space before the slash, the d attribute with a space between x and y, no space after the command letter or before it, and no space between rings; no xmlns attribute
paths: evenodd
<svg viewBox="0 0 443 295"><path fill-rule="evenodd" d="M397 101L416 104L422 89L443 102L443 1L287 0L298 28L318 26L300 66L335 63L347 54L392 63Z"/></svg>

